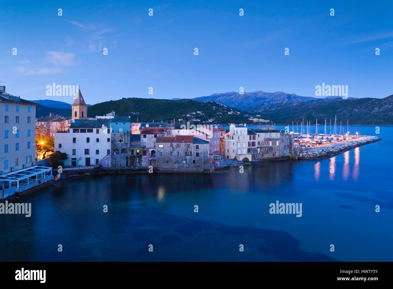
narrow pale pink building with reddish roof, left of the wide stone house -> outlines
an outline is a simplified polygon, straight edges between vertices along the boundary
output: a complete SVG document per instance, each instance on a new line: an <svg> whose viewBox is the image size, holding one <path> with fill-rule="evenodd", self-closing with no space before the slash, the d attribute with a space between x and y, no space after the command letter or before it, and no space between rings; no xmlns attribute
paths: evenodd
<svg viewBox="0 0 393 289"><path fill-rule="evenodd" d="M157 138L172 136L168 127L143 127L141 129L141 144L146 155L142 155L142 167L156 166L156 142Z"/></svg>

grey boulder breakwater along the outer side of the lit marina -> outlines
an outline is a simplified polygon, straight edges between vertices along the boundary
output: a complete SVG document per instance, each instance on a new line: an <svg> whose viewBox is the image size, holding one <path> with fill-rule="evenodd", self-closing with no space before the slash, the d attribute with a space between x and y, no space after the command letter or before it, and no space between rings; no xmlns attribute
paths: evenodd
<svg viewBox="0 0 393 289"><path fill-rule="evenodd" d="M373 142L378 142L380 140L382 140L382 138L378 138L378 136L359 136L353 140L336 142L329 145L308 148L303 147L295 150L294 155L292 155L290 158L295 160L315 160L318 158L327 158L329 156L338 155L343 151L348 151L349 149L353 149L365 144L371 144Z"/></svg>

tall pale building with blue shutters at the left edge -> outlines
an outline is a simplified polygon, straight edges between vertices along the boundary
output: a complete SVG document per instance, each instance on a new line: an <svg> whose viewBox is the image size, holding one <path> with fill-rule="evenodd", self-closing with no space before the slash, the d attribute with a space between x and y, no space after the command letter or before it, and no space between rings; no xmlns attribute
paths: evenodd
<svg viewBox="0 0 393 289"><path fill-rule="evenodd" d="M35 164L35 108L33 103L6 92L0 86L0 173Z"/></svg>

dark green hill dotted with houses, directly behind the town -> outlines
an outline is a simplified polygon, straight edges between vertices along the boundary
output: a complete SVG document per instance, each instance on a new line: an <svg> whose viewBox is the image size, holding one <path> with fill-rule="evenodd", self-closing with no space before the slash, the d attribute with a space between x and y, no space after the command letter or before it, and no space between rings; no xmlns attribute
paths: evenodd
<svg viewBox="0 0 393 289"><path fill-rule="evenodd" d="M201 123L209 119L213 119L214 123L250 123L247 112L215 102L202 103L193 99L122 98L92 105L88 107L87 115L88 117L102 116L112 110L118 116L131 116L131 121L137 121L137 119L139 121L152 121L153 119L154 121L171 121L173 118L178 121L182 118L185 121L198 119Z"/></svg>

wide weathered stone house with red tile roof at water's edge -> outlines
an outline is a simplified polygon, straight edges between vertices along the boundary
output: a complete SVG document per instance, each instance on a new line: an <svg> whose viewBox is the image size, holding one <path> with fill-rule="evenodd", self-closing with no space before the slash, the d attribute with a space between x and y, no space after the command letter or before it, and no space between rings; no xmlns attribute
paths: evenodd
<svg viewBox="0 0 393 289"><path fill-rule="evenodd" d="M159 170L209 171L209 142L195 136L158 137Z"/></svg>

